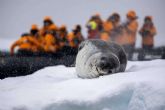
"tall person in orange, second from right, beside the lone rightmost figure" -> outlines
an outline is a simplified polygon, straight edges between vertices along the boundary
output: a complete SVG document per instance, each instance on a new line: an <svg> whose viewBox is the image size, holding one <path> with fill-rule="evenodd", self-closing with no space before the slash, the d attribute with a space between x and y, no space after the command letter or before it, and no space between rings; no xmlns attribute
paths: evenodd
<svg viewBox="0 0 165 110"><path fill-rule="evenodd" d="M123 34L120 39L120 44L125 48L128 54L128 59L132 59L133 51L136 43L136 34L138 29L138 22L135 11L131 10L127 13L127 22L122 24Z"/></svg>

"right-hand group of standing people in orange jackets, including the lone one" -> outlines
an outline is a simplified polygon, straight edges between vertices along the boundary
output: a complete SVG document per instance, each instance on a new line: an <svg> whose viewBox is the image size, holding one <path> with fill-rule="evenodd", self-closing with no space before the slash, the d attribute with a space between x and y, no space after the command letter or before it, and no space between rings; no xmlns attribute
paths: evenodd
<svg viewBox="0 0 165 110"><path fill-rule="evenodd" d="M99 14L93 15L86 25L88 39L114 41L122 45L126 50L128 59L132 59L138 32L138 16L134 10L130 10L126 14L126 19L126 22L121 23L121 17L118 13L113 13L105 21L101 19ZM154 46L156 29L152 19L152 16L146 16L144 25L139 31L142 36L142 48L144 50L152 49Z"/></svg>

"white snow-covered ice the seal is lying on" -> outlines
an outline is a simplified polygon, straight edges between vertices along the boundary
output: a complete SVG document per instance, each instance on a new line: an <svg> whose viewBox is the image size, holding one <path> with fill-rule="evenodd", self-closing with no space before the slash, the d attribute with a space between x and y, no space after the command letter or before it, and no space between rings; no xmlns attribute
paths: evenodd
<svg viewBox="0 0 165 110"><path fill-rule="evenodd" d="M165 60L128 62L126 72L81 79L53 66L0 80L0 110L165 110Z"/></svg>

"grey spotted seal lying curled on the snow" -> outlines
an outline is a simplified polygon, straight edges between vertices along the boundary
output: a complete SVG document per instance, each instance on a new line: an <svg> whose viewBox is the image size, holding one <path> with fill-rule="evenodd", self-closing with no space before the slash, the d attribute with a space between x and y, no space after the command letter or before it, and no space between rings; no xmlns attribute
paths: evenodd
<svg viewBox="0 0 165 110"><path fill-rule="evenodd" d="M76 73L80 78L124 72L127 57L124 49L114 43L99 39L83 41L76 56Z"/></svg>

